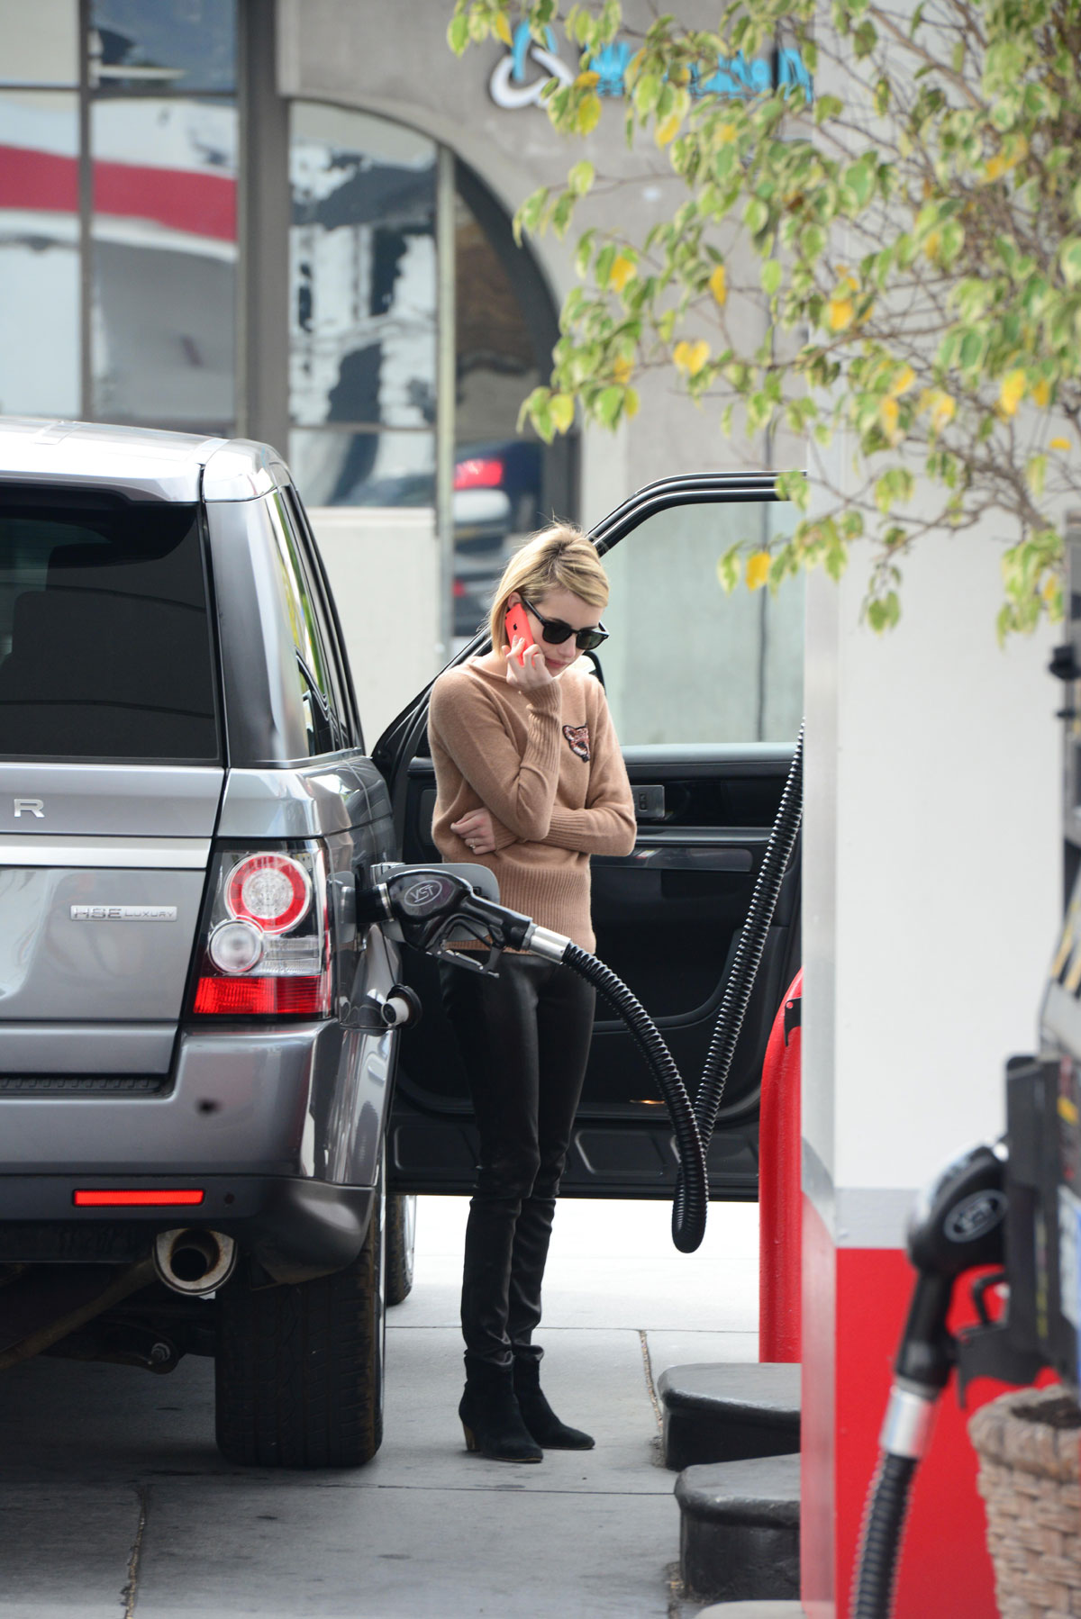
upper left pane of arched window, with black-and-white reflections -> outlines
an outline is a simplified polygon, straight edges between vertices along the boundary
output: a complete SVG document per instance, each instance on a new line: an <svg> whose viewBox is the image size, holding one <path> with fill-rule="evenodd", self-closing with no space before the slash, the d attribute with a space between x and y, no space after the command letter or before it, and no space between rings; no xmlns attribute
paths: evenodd
<svg viewBox="0 0 1081 1619"><path fill-rule="evenodd" d="M297 427L417 427L428 439L436 416L434 142L381 118L300 102L290 183L290 419Z"/></svg>

